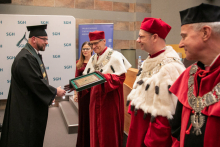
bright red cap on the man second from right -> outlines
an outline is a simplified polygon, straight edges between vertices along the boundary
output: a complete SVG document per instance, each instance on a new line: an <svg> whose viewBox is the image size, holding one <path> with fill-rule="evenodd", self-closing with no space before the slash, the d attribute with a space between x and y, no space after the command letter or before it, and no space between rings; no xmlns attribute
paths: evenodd
<svg viewBox="0 0 220 147"><path fill-rule="evenodd" d="M152 34L157 34L160 38L165 39L171 30L171 26L160 18L146 17L142 21L140 29Z"/></svg>

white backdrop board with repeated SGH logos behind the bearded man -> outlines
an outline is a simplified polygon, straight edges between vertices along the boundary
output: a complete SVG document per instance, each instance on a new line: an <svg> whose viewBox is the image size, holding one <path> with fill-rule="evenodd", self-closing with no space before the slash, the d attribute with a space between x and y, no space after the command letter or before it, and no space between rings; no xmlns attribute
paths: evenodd
<svg viewBox="0 0 220 147"><path fill-rule="evenodd" d="M26 26L47 24L48 45L43 62L50 85L69 83L75 77L75 18L55 15L0 14L0 99L7 99L11 83L11 65L28 41Z"/></svg>

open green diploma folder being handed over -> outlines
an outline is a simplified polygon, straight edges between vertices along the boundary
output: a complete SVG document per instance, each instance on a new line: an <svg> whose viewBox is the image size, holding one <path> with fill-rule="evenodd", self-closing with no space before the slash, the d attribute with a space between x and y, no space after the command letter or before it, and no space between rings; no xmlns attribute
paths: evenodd
<svg viewBox="0 0 220 147"><path fill-rule="evenodd" d="M92 72L87 75L79 76L70 80L70 86L72 86L76 91L82 91L84 89L88 89L98 84L102 84L106 81L106 79L96 73Z"/></svg>

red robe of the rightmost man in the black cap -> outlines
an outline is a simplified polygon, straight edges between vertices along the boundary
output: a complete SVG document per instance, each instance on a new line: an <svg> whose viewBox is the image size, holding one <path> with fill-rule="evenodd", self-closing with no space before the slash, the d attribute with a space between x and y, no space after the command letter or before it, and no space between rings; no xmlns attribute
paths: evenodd
<svg viewBox="0 0 220 147"><path fill-rule="evenodd" d="M207 75L201 78L199 93L198 93L198 82L197 76L194 77L194 95L203 96L204 94L210 92L217 83L220 82L220 57L216 59L214 64L210 67ZM184 147L185 135L189 117L192 111L192 108L188 103L188 79L190 68L187 68L182 75L176 80L176 82L170 88L170 91L178 97L180 103L182 103L182 114L181 114L181 131L180 131L180 144L178 141L174 142L173 147ZM199 67L197 72L201 68ZM196 75L196 74L195 74ZM213 105L205 107L202 111L202 114L207 116L207 122L205 126L203 146L204 147L219 147L220 146L220 102L217 102ZM192 128L193 129L193 128Z"/></svg>

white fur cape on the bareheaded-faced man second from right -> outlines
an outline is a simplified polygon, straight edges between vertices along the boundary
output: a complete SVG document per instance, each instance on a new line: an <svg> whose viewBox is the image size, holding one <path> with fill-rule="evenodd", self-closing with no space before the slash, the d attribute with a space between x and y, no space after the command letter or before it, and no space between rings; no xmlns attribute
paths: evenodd
<svg viewBox="0 0 220 147"><path fill-rule="evenodd" d="M165 47L165 52L155 58L148 57L142 64L142 71L150 71L154 69L165 58L178 58L179 56L171 46ZM185 70L183 64L176 61L165 64L158 73L152 77L144 77L143 84L137 84L140 81L141 74L137 76L133 89L127 99L131 101L131 105L135 109L142 109L144 113L150 113L152 116L164 116L172 119L175 113L177 97L170 94L168 86L172 85L180 74ZM150 85L147 90L146 86ZM159 87L159 94L155 93L155 86Z"/></svg>

